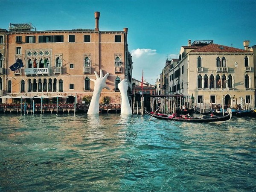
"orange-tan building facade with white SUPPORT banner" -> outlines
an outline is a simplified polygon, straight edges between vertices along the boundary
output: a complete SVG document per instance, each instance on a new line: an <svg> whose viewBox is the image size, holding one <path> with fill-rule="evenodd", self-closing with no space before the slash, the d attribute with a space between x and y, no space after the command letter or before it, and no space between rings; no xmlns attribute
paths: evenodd
<svg viewBox="0 0 256 192"><path fill-rule="evenodd" d="M128 51L128 28L123 31L100 31L99 12L95 12L95 29L36 31L31 24L10 24L6 35L6 85L4 94L67 96L81 102L92 95L96 79L94 72L109 73L102 95L111 97L111 103L120 103L117 84L128 80L131 93L132 60ZM2 52L4 55L5 53ZM24 67L9 70L17 59Z"/></svg>

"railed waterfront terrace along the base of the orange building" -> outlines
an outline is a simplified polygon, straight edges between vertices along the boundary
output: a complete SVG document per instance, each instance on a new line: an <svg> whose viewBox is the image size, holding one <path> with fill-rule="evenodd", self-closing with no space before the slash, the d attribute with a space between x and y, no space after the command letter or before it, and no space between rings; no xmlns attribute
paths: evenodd
<svg viewBox="0 0 256 192"><path fill-rule="evenodd" d="M75 110L76 109L76 110ZM0 113L87 113L89 104L0 104ZM121 104L99 104L100 113L120 113Z"/></svg>

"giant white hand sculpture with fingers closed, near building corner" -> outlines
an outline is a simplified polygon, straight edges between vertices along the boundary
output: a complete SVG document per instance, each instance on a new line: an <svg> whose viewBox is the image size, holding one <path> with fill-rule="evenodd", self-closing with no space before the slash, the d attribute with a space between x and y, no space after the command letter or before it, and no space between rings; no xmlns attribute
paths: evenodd
<svg viewBox="0 0 256 192"><path fill-rule="evenodd" d="M121 93L121 114L131 114L131 106L129 103L127 90L128 90L128 83L127 79L123 79L118 85L118 88Z"/></svg>

